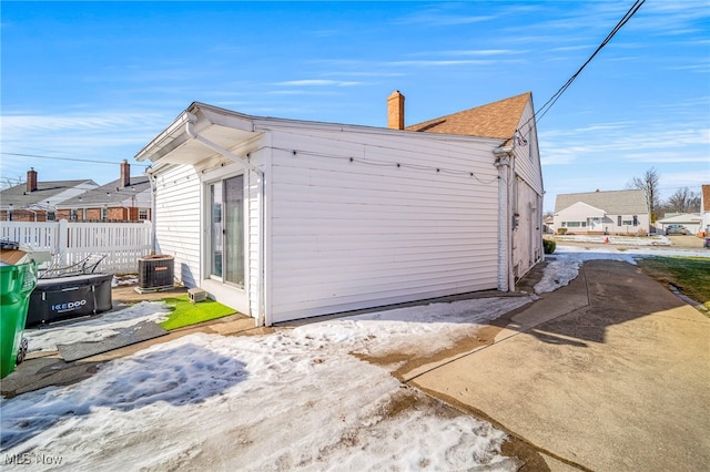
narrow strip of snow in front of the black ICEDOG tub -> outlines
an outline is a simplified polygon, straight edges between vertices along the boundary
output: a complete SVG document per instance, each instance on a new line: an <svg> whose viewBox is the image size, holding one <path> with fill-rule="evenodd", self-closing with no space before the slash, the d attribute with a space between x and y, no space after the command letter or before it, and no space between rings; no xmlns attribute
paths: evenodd
<svg viewBox="0 0 710 472"><path fill-rule="evenodd" d="M97 317L52 324L24 330L29 352L55 351L57 345L93 342L118 335L116 329L143 321L161 322L168 319L169 307L163 302L141 301L120 311L108 311Z"/></svg>

